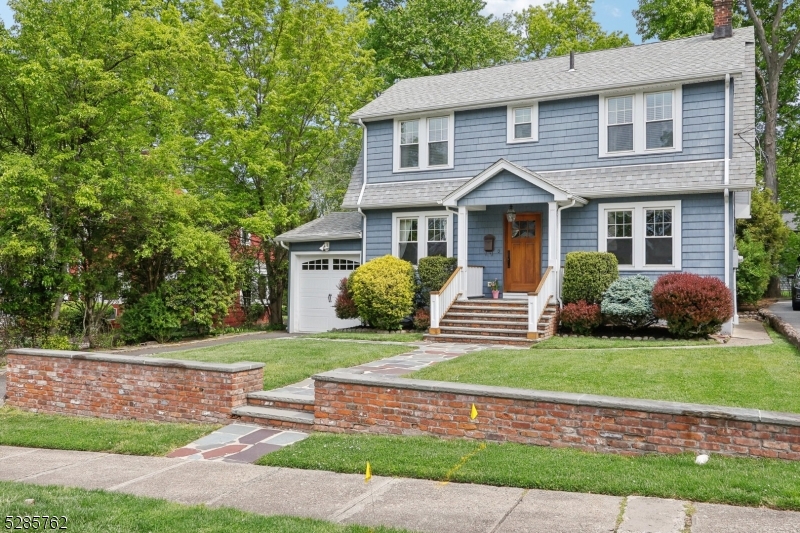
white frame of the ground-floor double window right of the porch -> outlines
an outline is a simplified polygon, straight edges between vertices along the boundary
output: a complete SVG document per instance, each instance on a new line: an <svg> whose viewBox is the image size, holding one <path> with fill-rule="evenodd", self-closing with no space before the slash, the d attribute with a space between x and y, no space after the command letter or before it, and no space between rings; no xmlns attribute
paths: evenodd
<svg viewBox="0 0 800 533"><path fill-rule="evenodd" d="M648 209L672 209L672 264L645 265L645 211ZM598 204L597 206L597 250L607 250L606 213L608 211L633 211L633 265L620 265L622 272L674 271L681 270L681 201L625 202Z"/></svg>

